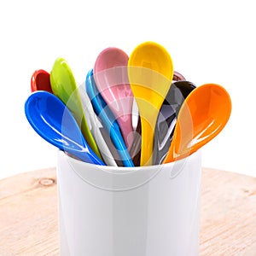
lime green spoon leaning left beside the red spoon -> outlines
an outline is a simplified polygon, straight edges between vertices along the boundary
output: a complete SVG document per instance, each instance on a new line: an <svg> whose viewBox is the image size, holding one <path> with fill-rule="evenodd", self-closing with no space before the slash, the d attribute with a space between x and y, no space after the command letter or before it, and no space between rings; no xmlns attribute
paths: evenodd
<svg viewBox="0 0 256 256"><path fill-rule="evenodd" d="M77 89L72 70L68 66L67 61L63 58L57 58L55 60L50 73L50 84L55 96L58 96L73 113L90 148L92 148L98 157L102 158L99 148L86 123L79 90Z"/></svg>

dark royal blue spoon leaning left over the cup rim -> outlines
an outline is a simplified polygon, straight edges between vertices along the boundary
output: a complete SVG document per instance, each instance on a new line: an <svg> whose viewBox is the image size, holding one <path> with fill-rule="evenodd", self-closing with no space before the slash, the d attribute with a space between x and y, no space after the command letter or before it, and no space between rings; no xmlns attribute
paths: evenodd
<svg viewBox="0 0 256 256"><path fill-rule="evenodd" d="M90 164L105 166L86 143L79 125L61 100L43 90L25 102L26 119L47 142Z"/></svg>

